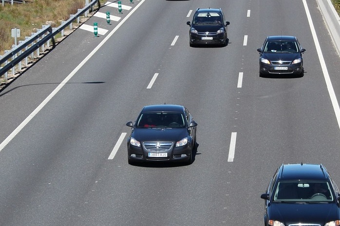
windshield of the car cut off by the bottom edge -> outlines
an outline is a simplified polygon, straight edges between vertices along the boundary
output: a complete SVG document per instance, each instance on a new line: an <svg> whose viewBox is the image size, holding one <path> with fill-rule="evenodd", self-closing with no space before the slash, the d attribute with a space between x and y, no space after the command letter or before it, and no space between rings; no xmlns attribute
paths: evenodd
<svg viewBox="0 0 340 226"><path fill-rule="evenodd" d="M276 187L274 201L330 202L333 195L327 181L282 181Z"/></svg>

